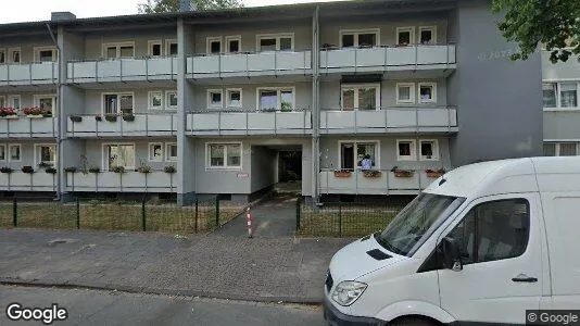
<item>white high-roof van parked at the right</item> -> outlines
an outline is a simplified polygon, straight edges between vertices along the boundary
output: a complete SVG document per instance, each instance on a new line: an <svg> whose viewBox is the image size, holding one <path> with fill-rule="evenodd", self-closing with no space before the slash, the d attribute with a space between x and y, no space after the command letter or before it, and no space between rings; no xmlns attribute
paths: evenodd
<svg viewBox="0 0 580 326"><path fill-rule="evenodd" d="M331 325L526 324L526 310L566 309L580 309L580 156L453 170L337 252L325 284Z"/></svg>

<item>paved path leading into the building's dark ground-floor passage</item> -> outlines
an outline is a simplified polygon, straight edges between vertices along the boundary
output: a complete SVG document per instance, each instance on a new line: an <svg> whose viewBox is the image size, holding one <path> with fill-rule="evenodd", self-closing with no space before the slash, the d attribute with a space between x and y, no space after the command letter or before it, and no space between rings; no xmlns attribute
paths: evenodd
<svg viewBox="0 0 580 326"><path fill-rule="evenodd" d="M255 238L280 238L294 235L297 223L297 196L273 195L252 208ZM248 237L245 215L240 215L216 231L225 237Z"/></svg>

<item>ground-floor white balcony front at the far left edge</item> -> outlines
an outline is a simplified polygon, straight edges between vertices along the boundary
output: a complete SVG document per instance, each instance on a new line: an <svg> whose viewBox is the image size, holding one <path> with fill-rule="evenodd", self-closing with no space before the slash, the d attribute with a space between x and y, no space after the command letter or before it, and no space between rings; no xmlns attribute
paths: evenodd
<svg viewBox="0 0 580 326"><path fill-rule="evenodd" d="M2 191L56 191L58 175L37 171L24 173L0 173L0 190Z"/></svg>

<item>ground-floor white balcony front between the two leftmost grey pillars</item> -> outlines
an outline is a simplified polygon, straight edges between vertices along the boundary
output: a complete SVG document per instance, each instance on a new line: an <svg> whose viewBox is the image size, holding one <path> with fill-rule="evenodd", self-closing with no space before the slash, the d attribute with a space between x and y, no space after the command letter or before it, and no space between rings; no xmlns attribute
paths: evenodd
<svg viewBox="0 0 580 326"><path fill-rule="evenodd" d="M175 192L177 191L176 175L163 171L140 173L66 173L67 191L102 191L102 192Z"/></svg>

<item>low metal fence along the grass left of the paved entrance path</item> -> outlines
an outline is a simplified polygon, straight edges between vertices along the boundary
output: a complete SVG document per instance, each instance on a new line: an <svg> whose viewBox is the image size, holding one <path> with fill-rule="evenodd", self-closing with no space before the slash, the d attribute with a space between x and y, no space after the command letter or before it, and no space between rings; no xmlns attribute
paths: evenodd
<svg viewBox="0 0 580 326"><path fill-rule="evenodd" d="M0 228L210 231L243 212L243 205L224 203L217 197L196 200L191 206L175 203L76 199L61 203L14 198L0 202Z"/></svg>

